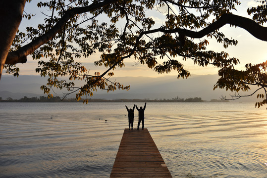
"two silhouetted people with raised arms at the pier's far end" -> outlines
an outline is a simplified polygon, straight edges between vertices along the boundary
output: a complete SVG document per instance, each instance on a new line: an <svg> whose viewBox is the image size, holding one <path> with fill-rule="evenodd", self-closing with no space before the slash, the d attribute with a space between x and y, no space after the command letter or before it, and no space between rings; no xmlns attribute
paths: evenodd
<svg viewBox="0 0 267 178"><path fill-rule="evenodd" d="M129 122L129 130L133 129L133 121L134 121L134 109L138 110L138 125L137 125L137 130L139 130L140 123L142 121L142 130L144 129L144 119L145 119L145 109L146 109L147 102L145 103L144 108L142 106L140 109L137 107L136 104L134 104L133 109L128 109L128 107L125 105L127 111L128 111L128 122ZM132 126L132 128L131 128Z"/></svg>

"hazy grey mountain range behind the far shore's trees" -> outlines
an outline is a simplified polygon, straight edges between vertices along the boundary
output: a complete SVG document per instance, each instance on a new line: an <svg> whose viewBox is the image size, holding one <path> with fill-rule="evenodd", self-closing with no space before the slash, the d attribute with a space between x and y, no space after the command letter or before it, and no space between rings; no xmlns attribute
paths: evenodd
<svg viewBox="0 0 267 178"><path fill-rule="evenodd" d="M203 100L219 99L221 95L229 96L223 89L213 90L218 79L217 75L192 75L188 79L177 79L176 76L151 77L117 77L111 81L130 85L130 90L115 90L114 92L97 91L93 98L101 99L172 99L174 97L201 97ZM46 85L47 79L35 75L19 75L13 77L3 75L0 80L0 97L20 99L24 96L46 96L40 89ZM79 82L81 84L81 82ZM54 96L62 96L61 90L54 90ZM75 97L74 94L68 98ZM242 98L238 101L254 101L255 96Z"/></svg>

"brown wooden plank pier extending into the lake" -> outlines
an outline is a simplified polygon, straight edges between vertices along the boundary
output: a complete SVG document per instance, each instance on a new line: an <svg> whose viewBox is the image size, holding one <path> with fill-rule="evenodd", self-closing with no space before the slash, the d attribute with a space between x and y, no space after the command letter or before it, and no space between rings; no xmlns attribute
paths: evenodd
<svg viewBox="0 0 267 178"><path fill-rule="evenodd" d="M172 178L147 129L125 129L110 178Z"/></svg>

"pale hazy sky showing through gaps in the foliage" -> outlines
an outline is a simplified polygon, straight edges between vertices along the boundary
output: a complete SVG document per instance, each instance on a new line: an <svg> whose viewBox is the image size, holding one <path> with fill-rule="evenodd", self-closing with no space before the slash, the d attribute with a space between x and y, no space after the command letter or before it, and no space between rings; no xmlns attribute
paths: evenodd
<svg viewBox="0 0 267 178"><path fill-rule="evenodd" d="M39 0L37 0L39 1ZM40 19L44 19L44 15L41 14L40 9L36 7L34 3L37 1L32 1L30 4L26 3L25 11L27 13L36 14L33 19L30 21L23 20L20 25L20 30L23 31L25 27L30 26L32 24L42 23ZM254 0L242 0L241 6L237 7L237 11L234 11L234 14L242 15L245 17L249 17L246 13L247 8L249 6L256 6L256 2ZM163 9L162 9L163 10ZM155 11L156 12L156 11ZM49 14L50 12L47 11ZM164 14L160 14L159 12L153 13L149 12L148 16L152 17L158 26L164 23ZM251 17L249 17L251 18ZM29 24L30 23L30 24ZM32 25L34 26L34 25ZM264 24L264 26L267 26ZM232 37L238 41L237 46L230 46L227 49L223 48L222 44L217 44L213 40L210 40L210 45L208 49L214 50L217 52L226 51L229 53L229 57L236 57L240 60L240 64L237 66L238 69L244 68L247 63L261 63L267 60L267 42L263 42L254 38L251 34L241 28L230 27L226 25L220 29L221 32L225 34L226 37ZM86 62L83 64L90 69L90 71L103 71L105 68L95 67L94 61L99 59L99 55L93 55L90 58L86 59ZM212 66L209 67L198 67L194 65L192 61L181 61L184 64L184 68L189 70L191 74L205 75L205 74L216 74L217 68ZM146 76L146 77L158 77L159 74L153 71L153 69L149 69L143 65L135 65L133 59L126 59L124 61L124 68L117 68L114 73L115 77L123 77L123 76ZM34 61L31 56L28 56L28 61L26 64L18 64L20 68L20 74L24 75L39 75L35 73L35 68L38 66L37 61ZM176 75L176 72L170 73L170 75Z"/></svg>

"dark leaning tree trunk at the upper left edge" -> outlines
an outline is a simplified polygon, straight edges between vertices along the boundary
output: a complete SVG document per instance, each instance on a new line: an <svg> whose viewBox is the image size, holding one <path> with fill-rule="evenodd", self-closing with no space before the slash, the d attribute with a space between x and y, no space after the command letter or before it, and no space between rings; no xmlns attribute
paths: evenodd
<svg viewBox="0 0 267 178"><path fill-rule="evenodd" d="M0 0L0 79L4 63L22 19L26 0Z"/></svg>

